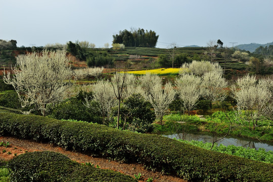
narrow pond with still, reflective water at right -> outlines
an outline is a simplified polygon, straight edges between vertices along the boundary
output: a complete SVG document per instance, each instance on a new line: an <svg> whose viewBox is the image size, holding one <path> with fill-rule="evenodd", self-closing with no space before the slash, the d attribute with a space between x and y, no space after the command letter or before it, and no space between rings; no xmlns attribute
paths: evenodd
<svg viewBox="0 0 273 182"><path fill-rule="evenodd" d="M187 141L203 141L204 143L213 142L213 136L203 133L176 133L176 134L170 134L170 135L164 135L168 138L176 138L176 139L182 139ZM217 139L221 138L220 136L217 136ZM262 143L256 140L251 140L247 138L234 138L227 136L226 138L216 142L218 145L222 144L224 146L234 145L234 146L241 146L245 148L254 148L258 150L259 148L265 149L265 151L273 151L273 143L272 142L266 142Z"/></svg>

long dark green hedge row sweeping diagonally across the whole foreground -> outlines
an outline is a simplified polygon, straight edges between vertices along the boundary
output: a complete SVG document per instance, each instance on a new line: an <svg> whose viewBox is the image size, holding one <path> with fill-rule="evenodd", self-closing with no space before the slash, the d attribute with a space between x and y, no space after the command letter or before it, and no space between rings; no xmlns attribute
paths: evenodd
<svg viewBox="0 0 273 182"><path fill-rule="evenodd" d="M100 124L0 113L0 135L54 143L67 150L137 161L194 181L273 181L273 165L208 151L164 136Z"/></svg>

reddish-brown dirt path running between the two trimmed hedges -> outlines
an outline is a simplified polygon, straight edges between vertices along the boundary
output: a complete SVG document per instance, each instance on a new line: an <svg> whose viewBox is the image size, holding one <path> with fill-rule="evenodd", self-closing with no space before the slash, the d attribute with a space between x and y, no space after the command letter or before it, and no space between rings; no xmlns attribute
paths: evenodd
<svg viewBox="0 0 273 182"><path fill-rule="evenodd" d="M160 172L152 172L150 170L145 170L142 164L124 164L124 163L118 163L116 161L108 161L108 159L105 158L99 158L99 157L92 157L86 154L78 153L78 152L72 152L72 151L66 151L63 148L50 145L50 144L44 144L44 143L37 143L30 140L20 140L13 137L0 137L0 142L9 142L10 146L8 148L6 147L0 147L0 159L9 160L15 157L15 155L20 155L25 152L34 152L34 151L54 151L58 153L62 153L66 156L68 156L70 159L75 160L80 163L90 162L94 164L95 166L99 165L102 169L112 169L115 171L119 171L121 173L134 176L134 174L141 173L142 174L142 180L140 181L146 181L149 177L152 177L154 180L153 182L184 182L186 180L183 180L181 178L171 176L171 175L162 175ZM6 150L6 152L3 153L3 150Z"/></svg>

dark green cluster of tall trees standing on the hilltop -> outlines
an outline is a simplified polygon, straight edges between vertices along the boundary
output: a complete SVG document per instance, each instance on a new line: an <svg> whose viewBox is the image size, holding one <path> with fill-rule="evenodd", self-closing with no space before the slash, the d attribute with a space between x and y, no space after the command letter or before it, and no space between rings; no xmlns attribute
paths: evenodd
<svg viewBox="0 0 273 182"><path fill-rule="evenodd" d="M148 31L139 28L119 31L119 34L113 35L113 43L123 43L125 47L146 47L155 48L159 35L155 31Z"/></svg>

